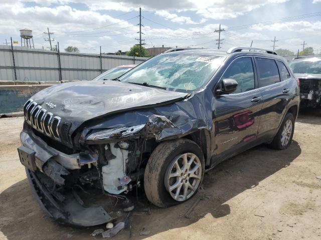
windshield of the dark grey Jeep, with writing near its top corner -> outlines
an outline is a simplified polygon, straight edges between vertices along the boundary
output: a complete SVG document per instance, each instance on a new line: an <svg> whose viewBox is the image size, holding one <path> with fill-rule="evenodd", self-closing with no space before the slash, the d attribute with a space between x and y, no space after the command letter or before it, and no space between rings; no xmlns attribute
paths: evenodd
<svg viewBox="0 0 321 240"><path fill-rule="evenodd" d="M144 83L170 90L196 90L206 84L225 57L199 54L157 55L125 73L120 81Z"/></svg>

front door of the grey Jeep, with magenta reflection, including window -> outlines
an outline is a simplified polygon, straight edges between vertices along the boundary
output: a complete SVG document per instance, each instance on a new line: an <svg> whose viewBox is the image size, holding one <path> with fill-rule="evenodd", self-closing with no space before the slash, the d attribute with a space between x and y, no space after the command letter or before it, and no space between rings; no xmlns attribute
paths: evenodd
<svg viewBox="0 0 321 240"><path fill-rule="evenodd" d="M221 87L220 82L224 78L235 79L238 88L233 93L214 97L213 164L255 144L262 108L262 94L257 89L253 57L234 59L223 73L217 88Z"/></svg>

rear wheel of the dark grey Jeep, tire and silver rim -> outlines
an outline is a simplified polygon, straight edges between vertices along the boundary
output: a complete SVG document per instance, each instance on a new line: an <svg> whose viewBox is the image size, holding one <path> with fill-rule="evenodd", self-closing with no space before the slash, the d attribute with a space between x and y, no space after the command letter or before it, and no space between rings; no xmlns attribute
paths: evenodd
<svg viewBox="0 0 321 240"><path fill-rule="evenodd" d="M286 113L282 124L273 138L270 147L277 150L286 149L292 141L294 133L294 117L293 114Z"/></svg>

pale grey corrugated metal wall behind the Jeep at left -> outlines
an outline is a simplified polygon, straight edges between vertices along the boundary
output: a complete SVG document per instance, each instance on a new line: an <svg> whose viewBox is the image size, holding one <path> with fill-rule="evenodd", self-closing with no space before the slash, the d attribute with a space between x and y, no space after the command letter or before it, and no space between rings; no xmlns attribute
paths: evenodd
<svg viewBox="0 0 321 240"><path fill-rule="evenodd" d="M14 46L17 80L58 81L58 52ZM102 54L102 69L139 64L148 57ZM60 52L62 80L90 80L100 74L100 55ZM0 80L15 80L11 46L0 45Z"/></svg>

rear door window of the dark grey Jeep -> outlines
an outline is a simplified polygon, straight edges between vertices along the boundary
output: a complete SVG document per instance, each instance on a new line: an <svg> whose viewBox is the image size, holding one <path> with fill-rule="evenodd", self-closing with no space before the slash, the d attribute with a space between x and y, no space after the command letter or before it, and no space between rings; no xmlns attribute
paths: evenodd
<svg viewBox="0 0 321 240"><path fill-rule="evenodd" d="M257 69L259 71L259 87L268 86L280 81L279 71L275 60L256 57Z"/></svg>

